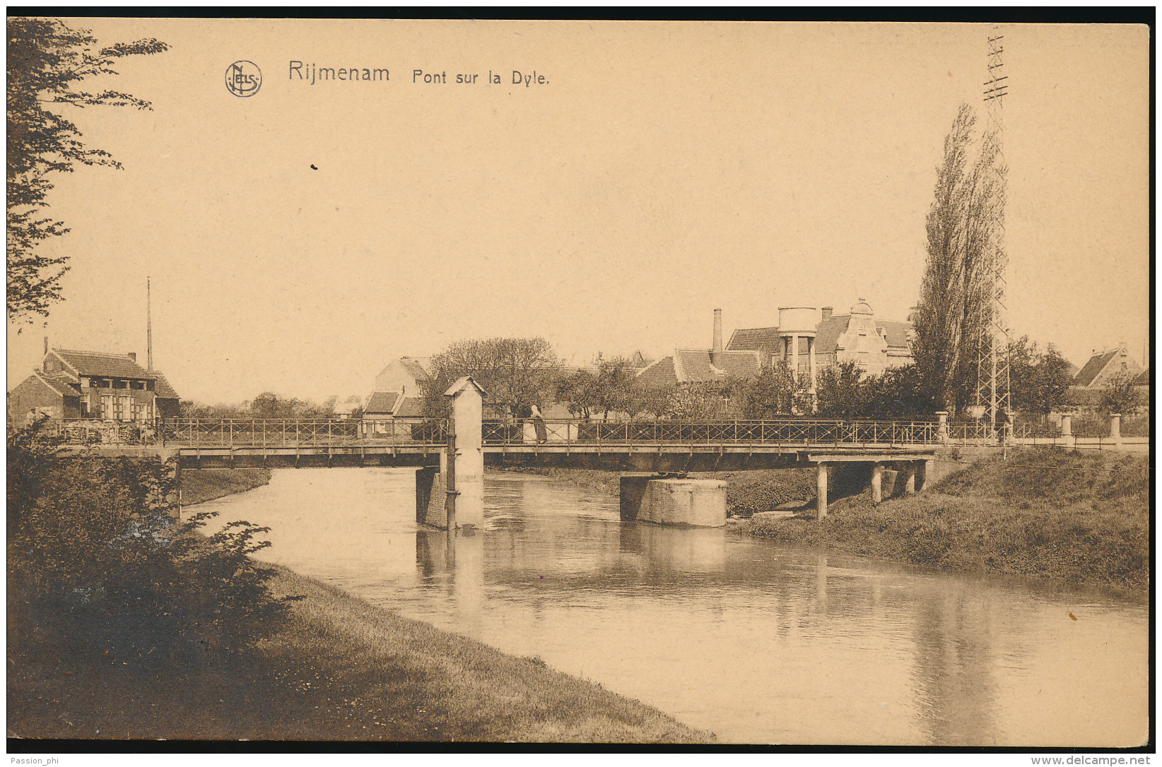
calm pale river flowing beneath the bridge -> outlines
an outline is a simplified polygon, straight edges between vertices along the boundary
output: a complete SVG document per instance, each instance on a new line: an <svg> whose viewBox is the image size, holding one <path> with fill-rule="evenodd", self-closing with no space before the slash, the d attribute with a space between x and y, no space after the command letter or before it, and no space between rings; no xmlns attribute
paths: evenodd
<svg viewBox="0 0 1162 767"><path fill-rule="evenodd" d="M622 522L616 498L507 472L485 477L486 529L450 549L416 524L414 477L282 469L199 508L270 526L263 559L724 743L1146 738L1145 601Z"/></svg>

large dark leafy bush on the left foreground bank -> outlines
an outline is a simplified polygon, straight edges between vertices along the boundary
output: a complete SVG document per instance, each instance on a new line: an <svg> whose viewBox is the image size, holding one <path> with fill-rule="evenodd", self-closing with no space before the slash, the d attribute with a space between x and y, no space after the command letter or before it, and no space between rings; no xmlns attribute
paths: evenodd
<svg viewBox="0 0 1162 767"><path fill-rule="evenodd" d="M236 650L286 614L250 555L268 528L216 515L175 519L173 466L160 460L67 456L43 424L8 437L9 612L78 646L149 645L159 654ZM30 625L31 624L31 625Z"/></svg>

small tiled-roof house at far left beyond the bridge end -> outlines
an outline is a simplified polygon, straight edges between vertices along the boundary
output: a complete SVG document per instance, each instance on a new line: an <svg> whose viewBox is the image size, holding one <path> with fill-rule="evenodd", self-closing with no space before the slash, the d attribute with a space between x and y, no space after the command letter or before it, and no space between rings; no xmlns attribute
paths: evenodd
<svg viewBox="0 0 1162 767"><path fill-rule="evenodd" d="M41 367L8 392L8 417L151 421L177 418L179 398L137 355L45 349Z"/></svg>

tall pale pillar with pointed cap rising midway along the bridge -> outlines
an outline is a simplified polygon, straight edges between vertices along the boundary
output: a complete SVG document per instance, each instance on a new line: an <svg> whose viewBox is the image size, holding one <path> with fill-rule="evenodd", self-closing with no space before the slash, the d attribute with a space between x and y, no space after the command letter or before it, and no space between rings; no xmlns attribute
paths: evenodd
<svg viewBox="0 0 1162 767"><path fill-rule="evenodd" d="M485 450L481 434L485 390L465 376L444 392L452 398L447 454L449 529L485 526ZM453 479L454 478L454 479Z"/></svg>

